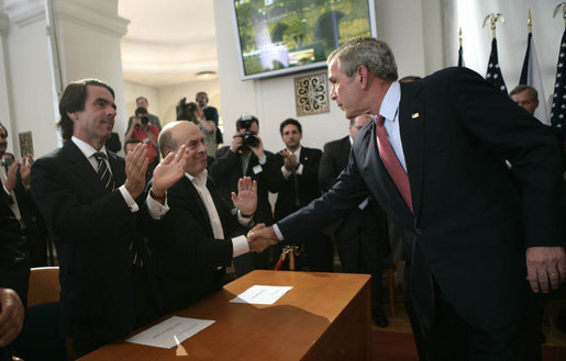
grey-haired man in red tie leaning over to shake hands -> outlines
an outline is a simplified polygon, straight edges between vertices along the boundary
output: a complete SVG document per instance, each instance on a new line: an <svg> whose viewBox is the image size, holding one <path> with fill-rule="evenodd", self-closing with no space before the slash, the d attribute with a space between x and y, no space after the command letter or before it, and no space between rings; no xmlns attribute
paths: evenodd
<svg viewBox="0 0 566 361"><path fill-rule="evenodd" d="M561 158L550 128L466 68L399 84L391 50L375 38L334 50L329 75L346 116L377 114L376 122L356 136L332 190L276 225L278 238L314 233L371 194L413 235L403 239L412 240L428 358L522 360L536 341L530 292L566 279ZM268 227L256 237L277 236Z"/></svg>

